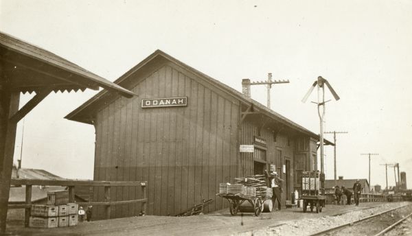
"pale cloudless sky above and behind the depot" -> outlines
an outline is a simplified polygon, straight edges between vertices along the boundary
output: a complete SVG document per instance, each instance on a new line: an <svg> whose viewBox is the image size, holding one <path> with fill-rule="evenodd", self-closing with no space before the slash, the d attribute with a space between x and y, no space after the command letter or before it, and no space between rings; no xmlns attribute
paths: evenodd
<svg viewBox="0 0 412 236"><path fill-rule="evenodd" d="M363 1L16 1L0 0L0 30L114 81L161 49L241 91L243 78L290 80L271 90L271 108L319 133L312 93L327 92L325 130L337 135L338 176L386 186L384 163L400 163L412 187L412 2ZM314 91L316 92L316 91ZM16 134L14 162L65 178L93 178L95 130L65 115L95 95L54 93ZM266 88L252 87L266 104ZM21 106L32 95L22 95ZM24 132L23 132L24 122ZM22 139L23 134L23 139ZM333 140L332 135L325 138ZM21 143L23 140L23 148ZM325 174L334 178L333 147ZM394 185L393 168L388 183Z"/></svg>

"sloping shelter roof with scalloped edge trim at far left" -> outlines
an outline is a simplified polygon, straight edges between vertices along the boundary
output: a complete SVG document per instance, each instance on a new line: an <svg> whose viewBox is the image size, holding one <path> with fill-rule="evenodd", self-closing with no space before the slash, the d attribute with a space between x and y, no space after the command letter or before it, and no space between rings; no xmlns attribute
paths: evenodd
<svg viewBox="0 0 412 236"><path fill-rule="evenodd" d="M23 93L51 88L53 91L98 90L99 86L126 97L135 93L95 75L50 51L0 32L0 86Z"/></svg>

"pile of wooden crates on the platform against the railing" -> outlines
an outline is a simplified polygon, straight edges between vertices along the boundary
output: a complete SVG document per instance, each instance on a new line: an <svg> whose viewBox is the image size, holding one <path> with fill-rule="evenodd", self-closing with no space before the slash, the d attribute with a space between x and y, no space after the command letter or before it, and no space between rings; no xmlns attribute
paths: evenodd
<svg viewBox="0 0 412 236"><path fill-rule="evenodd" d="M69 203L68 191L49 191L47 205L32 205L30 227L55 228L77 224L78 204Z"/></svg>

